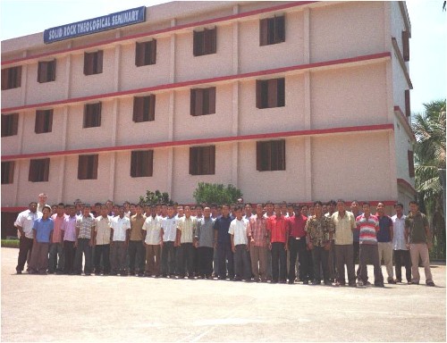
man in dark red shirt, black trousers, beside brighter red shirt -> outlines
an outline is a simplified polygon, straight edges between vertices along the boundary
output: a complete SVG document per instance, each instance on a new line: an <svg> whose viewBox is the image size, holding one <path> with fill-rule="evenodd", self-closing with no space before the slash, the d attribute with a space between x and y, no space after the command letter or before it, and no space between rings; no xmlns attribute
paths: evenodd
<svg viewBox="0 0 447 343"><path fill-rule="evenodd" d="M299 275L304 284L308 284L308 254L306 251L306 222L308 217L301 214L301 208L296 205L294 214L289 216L287 220L290 222L289 232L289 283L295 281L295 264L297 256L299 258Z"/></svg>

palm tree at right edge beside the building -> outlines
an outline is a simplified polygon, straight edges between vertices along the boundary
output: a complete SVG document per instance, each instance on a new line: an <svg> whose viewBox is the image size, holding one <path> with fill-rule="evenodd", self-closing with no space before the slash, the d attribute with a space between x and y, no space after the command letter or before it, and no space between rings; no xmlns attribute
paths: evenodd
<svg viewBox="0 0 447 343"><path fill-rule="evenodd" d="M424 113L413 118L416 136L415 153L416 189L419 202L433 220L433 233L438 257L445 258L445 220L443 200L445 190L440 170L445 170L445 99L424 104Z"/></svg>

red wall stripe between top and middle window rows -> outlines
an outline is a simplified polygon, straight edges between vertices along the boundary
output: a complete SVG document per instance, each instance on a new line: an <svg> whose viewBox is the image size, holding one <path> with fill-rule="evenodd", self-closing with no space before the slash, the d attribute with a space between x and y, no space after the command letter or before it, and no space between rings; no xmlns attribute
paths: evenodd
<svg viewBox="0 0 447 343"><path fill-rule="evenodd" d="M363 56L343 58L340 60L325 61L325 62L318 62L318 63L308 63L308 64L299 64L299 65L293 65L290 67L269 69L266 71L253 71L253 72L246 72L246 73L236 74L236 75L226 75L226 76L220 76L220 77L209 78L209 79L194 79L194 80L190 80L190 81L168 83L168 84L158 85L158 86L153 86L153 87L148 87L148 88L122 90L119 92L99 94L99 95L95 95L95 96L80 96L80 97L74 97L74 98L70 98L70 99L50 101L50 102L46 102L46 103L8 107L8 108L2 108L2 113L13 113L13 112L22 111L22 110L29 110L32 108L49 107L49 106L55 106L55 105L70 105L70 104L75 104L75 103L80 103L80 102L113 98L115 96L130 96L130 95L135 95L135 94L139 94L139 93L148 93L148 92L155 92L158 90L190 87L190 86L196 86L196 85L205 84L205 83L215 83L215 82L222 82L222 81L228 81L228 80L247 79L247 78L254 78L254 77L266 76L266 75L271 75L271 74L278 74L278 73L283 73L283 72L288 72L288 71L299 71L299 70L306 70L306 69L328 67L328 66L345 64L345 63L358 63L358 62L364 62L364 61L370 61L370 60L378 60L378 59L382 59L382 58L386 58L386 57L391 57L391 53L385 52L385 53L380 53L380 54L367 54L367 55L363 55Z"/></svg>

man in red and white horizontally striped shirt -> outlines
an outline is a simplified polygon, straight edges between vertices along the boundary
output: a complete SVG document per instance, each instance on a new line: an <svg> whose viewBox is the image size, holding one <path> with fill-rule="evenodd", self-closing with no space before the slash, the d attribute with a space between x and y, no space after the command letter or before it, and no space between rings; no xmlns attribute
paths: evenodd
<svg viewBox="0 0 447 343"><path fill-rule="evenodd" d="M376 237L376 232L379 230L379 220L371 214L369 203L363 203L362 207L363 214L356 219L357 230L360 231L360 280L358 280L358 286L370 285L370 282L367 281L367 260L369 260L374 265L375 287L384 287L384 275L380 267Z"/></svg>

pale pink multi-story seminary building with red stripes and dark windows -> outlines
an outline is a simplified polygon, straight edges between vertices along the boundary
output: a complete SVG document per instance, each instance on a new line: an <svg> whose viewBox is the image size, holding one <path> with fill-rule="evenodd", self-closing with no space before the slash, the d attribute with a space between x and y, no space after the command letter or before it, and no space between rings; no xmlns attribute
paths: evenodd
<svg viewBox="0 0 447 343"><path fill-rule="evenodd" d="M2 211L40 192L191 203L198 181L250 202L408 203L410 32L404 2L176 2L5 40Z"/></svg>

